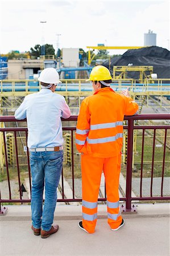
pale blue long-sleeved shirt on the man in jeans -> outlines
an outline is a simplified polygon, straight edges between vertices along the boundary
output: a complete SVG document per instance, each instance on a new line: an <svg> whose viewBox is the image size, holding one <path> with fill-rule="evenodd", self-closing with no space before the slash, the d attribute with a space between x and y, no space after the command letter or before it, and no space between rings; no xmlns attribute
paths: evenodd
<svg viewBox="0 0 170 256"><path fill-rule="evenodd" d="M49 89L29 94L15 111L16 119L27 118L28 148L62 146L61 117L70 116L64 97Z"/></svg>

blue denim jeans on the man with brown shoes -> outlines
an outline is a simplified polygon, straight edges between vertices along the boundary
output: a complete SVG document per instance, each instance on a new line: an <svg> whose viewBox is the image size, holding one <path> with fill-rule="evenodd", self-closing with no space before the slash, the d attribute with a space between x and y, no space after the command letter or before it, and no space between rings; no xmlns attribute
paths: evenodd
<svg viewBox="0 0 170 256"><path fill-rule="evenodd" d="M34 228L49 231L57 201L57 186L63 167L63 150L30 152L32 174L31 212ZM43 190L45 201L43 208Z"/></svg>

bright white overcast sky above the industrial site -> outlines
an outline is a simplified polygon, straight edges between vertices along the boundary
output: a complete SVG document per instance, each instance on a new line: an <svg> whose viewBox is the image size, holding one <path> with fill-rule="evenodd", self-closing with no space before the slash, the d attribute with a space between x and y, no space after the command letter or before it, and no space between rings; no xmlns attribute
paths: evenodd
<svg viewBox="0 0 170 256"><path fill-rule="evenodd" d="M143 46L144 33L157 34L157 46L169 48L167 1L8 1L1 3L0 51L29 51L35 44L60 48ZM44 32L42 31L42 23ZM113 53L113 51L109 51ZM125 51L124 51L125 52ZM115 51L114 53L123 53Z"/></svg>

